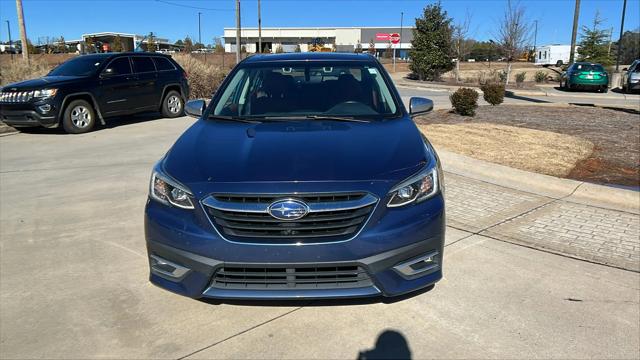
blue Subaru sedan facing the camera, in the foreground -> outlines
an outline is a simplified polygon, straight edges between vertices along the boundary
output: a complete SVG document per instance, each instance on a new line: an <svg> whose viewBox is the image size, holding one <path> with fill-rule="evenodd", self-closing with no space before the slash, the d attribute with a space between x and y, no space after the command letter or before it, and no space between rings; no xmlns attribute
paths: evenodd
<svg viewBox="0 0 640 360"><path fill-rule="evenodd" d="M158 161L145 210L150 280L193 298L397 296L442 278L438 156L363 54L238 64Z"/></svg>

